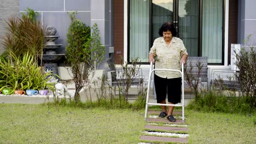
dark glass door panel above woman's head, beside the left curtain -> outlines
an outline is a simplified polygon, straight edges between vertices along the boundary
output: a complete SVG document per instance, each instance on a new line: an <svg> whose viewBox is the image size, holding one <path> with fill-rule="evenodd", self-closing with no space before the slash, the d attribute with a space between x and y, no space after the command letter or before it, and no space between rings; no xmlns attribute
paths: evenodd
<svg viewBox="0 0 256 144"><path fill-rule="evenodd" d="M173 0L152 0L152 44L164 22L173 21Z"/></svg>

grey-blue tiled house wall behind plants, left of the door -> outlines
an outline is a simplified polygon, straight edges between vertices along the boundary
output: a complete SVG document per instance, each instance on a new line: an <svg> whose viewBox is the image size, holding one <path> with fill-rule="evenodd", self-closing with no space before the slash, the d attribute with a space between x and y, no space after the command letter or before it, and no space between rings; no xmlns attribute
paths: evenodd
<svg viewBox="0 0 256 144"><path fill-rule="evenodd" d="M105 47L105 57L109 57L109 47L113 47L113 6L112 0L20 0L20 12L25 12L27 8L37 11L37 19L42 21L43 26L56 27L60 36L55 41L62 46L56 50L57 53L65 53L67 46L67 31L70 25L69 14L71 11L77 11L77 17L87 26L97 23L100 30L101 43ZM59 63L59 76L62 79L71 79L64 63ZM99 69L106 69L104 62L100 64Z"/></svg>

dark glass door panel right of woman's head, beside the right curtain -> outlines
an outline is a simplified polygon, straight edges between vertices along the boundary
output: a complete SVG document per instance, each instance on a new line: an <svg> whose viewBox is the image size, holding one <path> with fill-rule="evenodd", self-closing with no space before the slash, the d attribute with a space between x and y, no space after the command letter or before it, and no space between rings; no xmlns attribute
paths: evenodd
<svg viewBox="0 0 256 144"><path fill-rule="evenodd" d="M178 37L183 40L189 56L199 55L199 1L178 1Z"/></svg>

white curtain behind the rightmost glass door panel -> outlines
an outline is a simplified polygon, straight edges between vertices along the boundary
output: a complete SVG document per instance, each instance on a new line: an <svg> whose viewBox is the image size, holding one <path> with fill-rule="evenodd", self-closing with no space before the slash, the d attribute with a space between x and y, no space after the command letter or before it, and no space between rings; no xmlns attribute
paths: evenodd
<svg viewBox="0 0 256 144"><path fill-rule="evenodd" d="M203 0L202 5L202 56L222 63L223 0Z"/></svg>

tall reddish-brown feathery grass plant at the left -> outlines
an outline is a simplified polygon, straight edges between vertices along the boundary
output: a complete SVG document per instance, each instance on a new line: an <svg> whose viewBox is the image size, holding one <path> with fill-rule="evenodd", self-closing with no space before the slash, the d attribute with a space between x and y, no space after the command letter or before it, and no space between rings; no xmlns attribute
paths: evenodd
<svg viewBox="0 0 256 144"><path fill-rule="evenodd" d="M46 43L45 28L36 20L36 13L32 9L28 8L27 15L22 15L5 20L5 32L1 39L5 56L11 58L11 53L14 53L15 56L22 57L28 52L38 62L38 57L42 59Z"/></svg>

